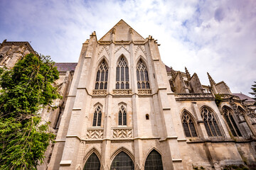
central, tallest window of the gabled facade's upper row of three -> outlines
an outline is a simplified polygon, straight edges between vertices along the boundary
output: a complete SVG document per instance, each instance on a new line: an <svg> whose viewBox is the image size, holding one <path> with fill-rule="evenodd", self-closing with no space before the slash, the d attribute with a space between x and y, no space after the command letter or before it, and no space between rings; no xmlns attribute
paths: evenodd
<svg viewBox="0 0 256 170"><path fill-rule="evenodd" d="M117 63L116 89L129 89L129 67L124 57Z"/></svg>

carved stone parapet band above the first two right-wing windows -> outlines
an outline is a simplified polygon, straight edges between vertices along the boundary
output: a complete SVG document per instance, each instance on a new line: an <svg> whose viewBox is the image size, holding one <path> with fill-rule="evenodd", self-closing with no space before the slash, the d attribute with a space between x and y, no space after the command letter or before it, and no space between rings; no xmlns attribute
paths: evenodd
<svg viewBox="0 0 256 170"><path fill-rule="evenodd" d="M174 94L176 101L214 99L213 94Z"/></svg>

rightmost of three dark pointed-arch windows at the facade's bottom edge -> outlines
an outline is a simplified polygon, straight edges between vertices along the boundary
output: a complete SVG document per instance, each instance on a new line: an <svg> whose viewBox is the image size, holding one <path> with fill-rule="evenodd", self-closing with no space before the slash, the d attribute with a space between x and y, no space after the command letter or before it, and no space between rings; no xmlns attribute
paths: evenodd
<svg viewBox="0 0 256 170"><path fill-rule="evenodd" d="M159 152L156 152L155 149L150 152L145 162L145 170L151 170L151 169L157 169L157 170L163 169L161 154L159 154Z"/></svg>

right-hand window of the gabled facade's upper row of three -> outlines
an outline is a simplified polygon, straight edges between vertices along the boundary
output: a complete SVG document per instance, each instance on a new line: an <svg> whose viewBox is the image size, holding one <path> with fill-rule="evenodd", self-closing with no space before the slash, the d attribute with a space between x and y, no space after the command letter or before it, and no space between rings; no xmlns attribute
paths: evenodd
<svg viewBox="0 0 256 170"><path fill-rule="evenodd" d="M150 89L149 75L142 60L139 60L137 64L137 86L138 89Z"/></svg>

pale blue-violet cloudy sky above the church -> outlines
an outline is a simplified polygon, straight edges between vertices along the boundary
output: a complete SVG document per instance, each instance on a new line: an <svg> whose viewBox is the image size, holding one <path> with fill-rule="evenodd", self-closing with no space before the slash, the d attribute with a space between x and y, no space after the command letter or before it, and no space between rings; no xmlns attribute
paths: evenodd
<svg viewBox="0 0 256 170"><path fill-rule="evenodd" d="M202 84L209 84L209 72L233 93L251 91L255 0L1 0L0 42L28 41L55 62L78 62L82 42L94 30L99 40L120 19L144 38L153 35L169 67L187 67Z"/></svg>

